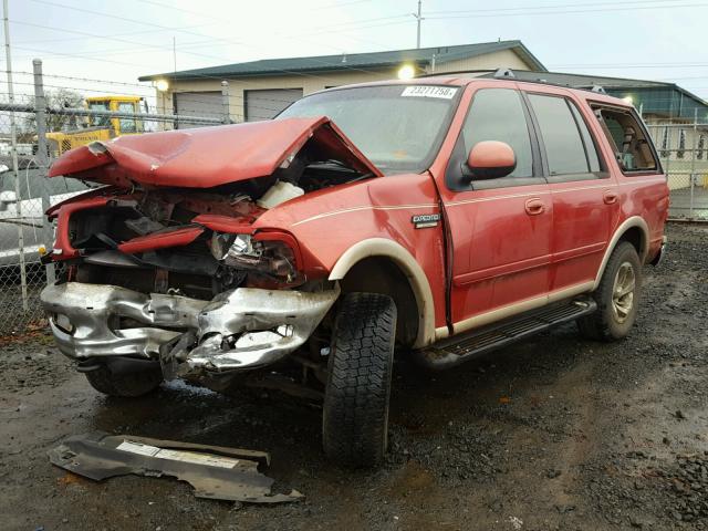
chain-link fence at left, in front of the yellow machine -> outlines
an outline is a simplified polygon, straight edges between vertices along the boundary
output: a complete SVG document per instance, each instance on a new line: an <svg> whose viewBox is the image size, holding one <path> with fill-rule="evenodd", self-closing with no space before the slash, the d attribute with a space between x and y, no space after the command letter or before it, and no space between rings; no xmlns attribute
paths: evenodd
<svg viewBox="0 0 708 531"><path fill-rule="evenodd" d="M204 116L180 116L155 112L149 86L70 88L81 80L52 77L55 84L46 90L41 62L34 61L30 82L15 82L18 94L0 93L0 336L44 326L39 293L55 271L40 262L54 240L43 212L90 188L75 179L46 178L56 157L117 135L230 122L226 83L221 104Z"/></svg>

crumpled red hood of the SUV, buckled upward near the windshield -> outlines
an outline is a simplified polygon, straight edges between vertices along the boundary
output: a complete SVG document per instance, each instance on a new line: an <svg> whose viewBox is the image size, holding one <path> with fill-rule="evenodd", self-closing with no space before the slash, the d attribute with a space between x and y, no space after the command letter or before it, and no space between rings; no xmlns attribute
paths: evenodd
<svg viewBox="0 0 708 531"><path fill-rule="evenodd" d="M326 158L381 176L381 171L325 116L166 131L94 142L62 155L49 176L123 187L211 188L266 177L308 140Z"/></svg>

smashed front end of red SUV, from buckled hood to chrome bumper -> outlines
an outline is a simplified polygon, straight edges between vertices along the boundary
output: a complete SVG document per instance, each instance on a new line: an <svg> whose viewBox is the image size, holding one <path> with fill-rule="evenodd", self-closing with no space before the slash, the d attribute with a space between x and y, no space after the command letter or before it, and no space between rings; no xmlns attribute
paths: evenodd
<svg viewBox="0 0 708 531"><path fill-rule="evenodd" d="M288 128L287 150L243 150L233 167L200 160L218 127L94 143L55 163L51 175L107 185L48 211L58 220L50 258L63 268L42 302L64 354L90 365L159 361L177 377L259 368L310 339L339 287L308 278L287 230L253 223L282 202L381 174L326 118L282 122L228 126L251 132L247 147L261 135L277 144Z"/></svg>

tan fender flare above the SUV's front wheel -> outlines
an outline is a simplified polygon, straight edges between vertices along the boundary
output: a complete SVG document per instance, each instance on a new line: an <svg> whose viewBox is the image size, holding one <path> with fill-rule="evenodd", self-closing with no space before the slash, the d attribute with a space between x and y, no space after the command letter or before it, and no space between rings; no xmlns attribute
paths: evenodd
<svg viewBox="0 0 708 531"><path fill-rule="evenodd" d="M413 347L431 344L435 341L435 304L430 283L420 264L400 243L386 238L369 238L354 243L339 258L329 280L342 280L354 264L368 257L388 258L400 268L418 305L418 334Z"/></svg>

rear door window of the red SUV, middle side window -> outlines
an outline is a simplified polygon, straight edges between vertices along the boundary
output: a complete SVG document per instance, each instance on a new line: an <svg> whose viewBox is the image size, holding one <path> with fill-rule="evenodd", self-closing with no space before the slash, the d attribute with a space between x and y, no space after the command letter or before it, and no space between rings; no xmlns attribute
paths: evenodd
<svg viewBox="0 0 708 531"><path fill-rule="evenodd" d="M529 100L541 129L550 175L593 171L568 101L564 97L539 94L529 94ZM595 163L597 167L596 154Z"/></svg>

